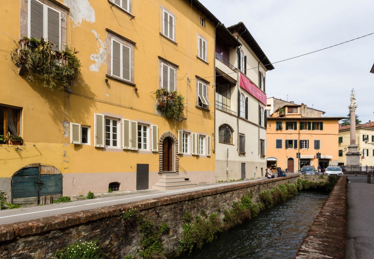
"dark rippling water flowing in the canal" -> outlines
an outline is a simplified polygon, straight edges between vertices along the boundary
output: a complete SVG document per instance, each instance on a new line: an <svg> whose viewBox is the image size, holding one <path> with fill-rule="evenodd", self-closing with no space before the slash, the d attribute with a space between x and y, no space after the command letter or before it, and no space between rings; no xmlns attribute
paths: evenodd
<svg viewBox="0 0 374 259"><path fill-rule="evenodd" d="M185 258L294 258L327 197L322 192L299 192Z"/></svg>

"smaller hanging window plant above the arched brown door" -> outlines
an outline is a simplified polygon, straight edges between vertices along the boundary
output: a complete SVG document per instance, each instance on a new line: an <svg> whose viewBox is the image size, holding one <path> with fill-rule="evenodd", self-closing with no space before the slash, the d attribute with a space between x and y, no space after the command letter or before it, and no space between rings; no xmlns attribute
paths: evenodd
<svg viewBox="0 0 374 259"><path fill-rule="evenodd" d="M165 116L172 118L176 123L183 114L184 97L177 91L168 92L165 89L156 90L157 104L156 109L159 112L165 112Z"/></svg>

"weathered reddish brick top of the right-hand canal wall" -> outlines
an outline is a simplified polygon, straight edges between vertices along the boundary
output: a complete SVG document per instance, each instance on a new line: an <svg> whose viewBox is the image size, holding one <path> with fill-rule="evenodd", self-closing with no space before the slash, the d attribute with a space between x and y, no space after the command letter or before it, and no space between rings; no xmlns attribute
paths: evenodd
<svg viewBox="0 0 374 259"><path fill-rule="evenodd" d="M340 176L295 258L345 258L347 176Z"/></svg>

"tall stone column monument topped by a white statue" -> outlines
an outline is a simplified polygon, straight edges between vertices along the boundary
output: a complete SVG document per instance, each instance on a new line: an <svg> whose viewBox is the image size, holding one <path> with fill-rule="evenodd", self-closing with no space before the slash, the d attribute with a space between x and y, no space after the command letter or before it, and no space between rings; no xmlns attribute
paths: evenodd
<svg viewBox="0 0 374 259"><path fill-rule="evenodd" d="M350 145L348 146L347 165L360 165L361 153L358 152L358 145L356 144L356 95L355 89L352 88L351 91L351 104L348 107L350 111Z"/></svg>

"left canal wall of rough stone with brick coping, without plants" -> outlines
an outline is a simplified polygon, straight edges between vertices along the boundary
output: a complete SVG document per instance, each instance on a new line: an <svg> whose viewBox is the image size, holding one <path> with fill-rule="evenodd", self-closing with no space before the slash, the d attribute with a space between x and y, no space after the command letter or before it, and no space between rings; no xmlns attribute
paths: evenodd
<svg viewBox="0 0 374 259"><path fill-rule="evenodd" d="M259 202L262 190L285 183L296 183L298 176L238 183L235 185L147 199L128 204L113 205L76 213L45 217L0 226L0 258L51 258L57 249L77 241L98 239L108 258L124 258L139 249L141 233L135 224L126 223L123 213L135 209L154 224L166 222L169 233L162 237L166 255L172 257L183 233L184 213L191 215L217 213L223 217L233 201L252 193Z"/></svg>

